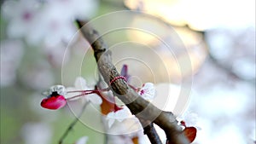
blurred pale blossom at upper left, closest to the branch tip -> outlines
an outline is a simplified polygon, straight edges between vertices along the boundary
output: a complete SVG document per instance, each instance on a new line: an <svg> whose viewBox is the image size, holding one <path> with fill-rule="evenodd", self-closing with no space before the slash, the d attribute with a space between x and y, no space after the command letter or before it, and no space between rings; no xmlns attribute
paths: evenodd
<svg viewBox="0 0 256 144"><path fill-rule="evenodd" d="M64 2L46 3L44 9L37 15L37 18L41 19L40 22L33 25L31 34L26 35L29 42L43 42L45 45L55 46L71 40L76 27L73 25L73 14L63 13L65 9L63 4Z"/></svg>

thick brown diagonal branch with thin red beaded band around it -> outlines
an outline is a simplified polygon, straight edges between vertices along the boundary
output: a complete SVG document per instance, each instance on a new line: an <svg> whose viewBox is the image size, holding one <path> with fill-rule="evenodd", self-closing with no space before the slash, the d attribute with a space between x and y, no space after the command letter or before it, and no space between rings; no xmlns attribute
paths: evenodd
<svg viewBox="0 0 256 144"><path fill-rule="evenodd" d="M82 34L94 50L98 69L105 82L109 85L109 82L113 78L120 76L115 66L113 66L111 51L108 50L107 45L103 42L96 30L90 26L84 26L84 22L82 21L78 21L78 23ZM84 27L82 28L82 26ZM161 111L150 102L145 101L123 79L116 80L109 87L112 89L113 94L118 96L137 118L146 119L165 130L166 137L170 143L189 144L189 141L182 133L181 127L177 125L177 120L172 112Z"/></svg>

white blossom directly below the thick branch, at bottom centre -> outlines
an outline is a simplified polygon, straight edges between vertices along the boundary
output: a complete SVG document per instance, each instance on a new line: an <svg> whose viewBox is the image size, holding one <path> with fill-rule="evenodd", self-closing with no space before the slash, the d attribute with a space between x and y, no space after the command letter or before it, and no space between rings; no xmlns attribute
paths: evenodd
<svg viewBox="0 0 256 144"><path fill-rule="evenodd" d="M131 114L128 107L123 107L122 110L117 112L110 112L106 120L108 122L107 133L111 134L108 136L108 143L150 143L147 136L143 135L142 124Z"/></svg>

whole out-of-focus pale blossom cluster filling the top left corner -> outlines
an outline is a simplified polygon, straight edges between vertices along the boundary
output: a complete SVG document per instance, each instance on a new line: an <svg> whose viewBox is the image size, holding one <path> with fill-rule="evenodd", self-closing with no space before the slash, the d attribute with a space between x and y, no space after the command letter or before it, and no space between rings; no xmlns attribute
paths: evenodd
<svg viewBox="0 0 256 144"><path fill-rule="evenodd" d="M2 6L10 38L25 37L27 43L68 43L76 32L75 19L89 19L97 8L95 0L10 0Z"/></svg>

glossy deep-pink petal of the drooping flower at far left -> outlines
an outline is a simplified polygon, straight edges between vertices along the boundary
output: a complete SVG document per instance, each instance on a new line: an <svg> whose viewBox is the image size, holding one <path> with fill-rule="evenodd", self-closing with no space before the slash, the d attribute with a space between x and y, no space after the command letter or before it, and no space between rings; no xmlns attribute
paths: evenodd
<svg viewBox="0 0 256 144"><path fill-rule="evenodd" d="M52 96L49 98L45 98L41 102L41 107L50 109L50 110L56 110L64 107L67 104L66 99L64 98L63 95L58 95L58 96Z"/></svg>

